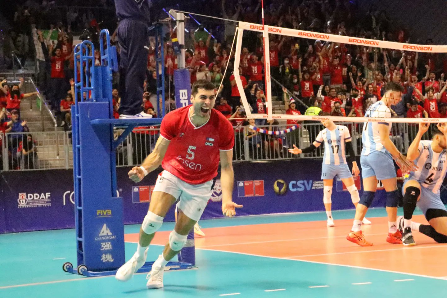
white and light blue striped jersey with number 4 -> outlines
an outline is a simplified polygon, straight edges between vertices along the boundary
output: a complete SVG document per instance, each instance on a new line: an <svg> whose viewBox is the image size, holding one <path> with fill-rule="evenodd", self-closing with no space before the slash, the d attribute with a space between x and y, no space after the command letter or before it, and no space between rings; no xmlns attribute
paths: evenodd
<svg viewBox="0 0 447 298"><path fill-rule="evenodd" d="M408 179L415 179L422 187L439 193L446 176L446 151L436 153L431 148L432 141L419 142L419 156L414 160L418 170L410 172Z"/></svg>

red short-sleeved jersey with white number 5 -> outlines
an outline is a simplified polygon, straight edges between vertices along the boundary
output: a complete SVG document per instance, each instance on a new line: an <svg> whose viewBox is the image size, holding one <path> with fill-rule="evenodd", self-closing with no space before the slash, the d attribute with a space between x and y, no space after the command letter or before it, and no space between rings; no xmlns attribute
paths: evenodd
<svg viewBox="0 0 447 298"><path fill-rule="evenodd" d="M197 185L217 176L220 151L232 150L234 131L222 113L211 109L208 121L194 126L190 120L192 105L167 113L160 135L171 141L161 166L186 183Z"/></svg>

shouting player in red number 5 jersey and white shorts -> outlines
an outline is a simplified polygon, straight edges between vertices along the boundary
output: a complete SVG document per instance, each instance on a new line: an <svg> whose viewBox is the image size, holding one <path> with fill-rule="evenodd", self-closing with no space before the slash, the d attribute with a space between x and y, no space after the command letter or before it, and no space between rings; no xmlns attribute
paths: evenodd
<svg viewBox="0 0 447 298"><path fill-rule="evenodd" d="M197 80L192 87L191 102L192 105L166 114L155 149L140 167L129 172L129 178L139 182L160 164L164 169L157 178L148 214L140 228L137 252L115 275L120 281L129 280L143 266L149 243L169 208L180 198L174 230L163 253L152 265L147 283L148 289L163 287L165 265L183 248L186 236L202 216L211 197L219 159L222 212L232 217L236 215L235 208L242 208L232 201L234 132L227 118L213 109L214 84Z"/></svg>

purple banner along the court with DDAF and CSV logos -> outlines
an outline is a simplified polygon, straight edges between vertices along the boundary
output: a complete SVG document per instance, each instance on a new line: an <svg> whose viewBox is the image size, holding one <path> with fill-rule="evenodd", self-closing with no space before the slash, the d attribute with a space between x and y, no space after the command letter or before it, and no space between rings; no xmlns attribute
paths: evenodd
<svg viewBox="0 0 447 298"><path fill-rule="evenodd" d="M238 215L324 210L321 160L292 159L267 163L235 163L233 201L244 205ZM129 180L130 168L117 168L118 194L123 198L124 223L140 223L148 211L156 176L150 173L139 184ZM74 227L73 171L3 172L0 233ZM219 176L218 176L219 177ZM26 181L26 182L25 182ZM358 189L361 192L360 181ZM222 189L217 180L202 218L222 217ZM372 206L384 206L385 193L378 191ZM350 194L334 181L333 210L352 209ZM174 221L174 207L165 221Z"/></svg>

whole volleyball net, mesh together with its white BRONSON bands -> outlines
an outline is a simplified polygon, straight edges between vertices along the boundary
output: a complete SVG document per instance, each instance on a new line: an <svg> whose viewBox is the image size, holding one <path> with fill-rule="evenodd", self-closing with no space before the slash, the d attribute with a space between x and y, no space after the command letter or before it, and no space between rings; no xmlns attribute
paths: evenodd
<svg viewBox="0 0 447 298"><path fill-rule="evenodd" d="M447 46L239 22L234 75L247 118L400 122L408 124L395 130L408 130L447 122L446 52ZM242 76L253 95L244 92Z"/></svg>

